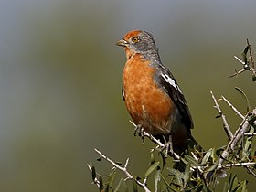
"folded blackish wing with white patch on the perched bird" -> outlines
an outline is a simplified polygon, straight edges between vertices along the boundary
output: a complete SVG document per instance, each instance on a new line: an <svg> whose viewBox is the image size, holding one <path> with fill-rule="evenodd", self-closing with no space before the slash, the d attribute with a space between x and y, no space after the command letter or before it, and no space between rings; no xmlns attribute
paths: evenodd
<svg viewBox="0 0 256 192"><path fill-rule="evenodd" d="M161 74L158 74L159 83L164 88L166 93L175 102L176 107L178 108L179 112L182 115L183 122L185 123L187 130L189 130L190 133L190 129L192 129L194 125L187 106L187 101L185 100L183 93L180 91L178 84L172 73L162 65L160 65L159 67L159 71L162 72ZM163 77L163 75L165 75L165 77ZM166 80L166 78L170 79Z"/></svg>

